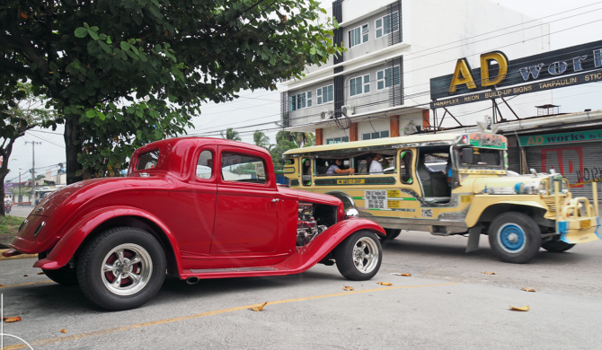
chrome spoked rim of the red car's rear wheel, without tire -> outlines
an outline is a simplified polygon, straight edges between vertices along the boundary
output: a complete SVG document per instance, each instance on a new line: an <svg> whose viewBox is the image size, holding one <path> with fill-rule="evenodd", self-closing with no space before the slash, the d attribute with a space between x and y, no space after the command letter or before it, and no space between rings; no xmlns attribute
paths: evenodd
<svg viewBox="0 0 602 350"><path fill-rule="evenodd" d="M102 283L117 295L132 295L142 290L153 274L153 260L137 244L121 244L102 260Z"/></svg>

